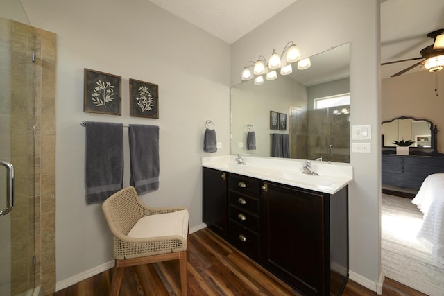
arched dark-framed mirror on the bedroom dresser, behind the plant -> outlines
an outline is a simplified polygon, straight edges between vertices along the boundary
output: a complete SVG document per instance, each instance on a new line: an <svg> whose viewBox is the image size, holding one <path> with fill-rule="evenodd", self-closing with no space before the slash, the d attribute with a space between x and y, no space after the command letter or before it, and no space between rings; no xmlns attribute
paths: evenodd
<svg viewBox="0 0 444 296"><path fill-rule="evenodd" d="M393 141L411 140L409 147L434 148L434 125L428 119L416 119L401 116L391 121L383 121L381 125L382 146L398 146Z"/></svg>

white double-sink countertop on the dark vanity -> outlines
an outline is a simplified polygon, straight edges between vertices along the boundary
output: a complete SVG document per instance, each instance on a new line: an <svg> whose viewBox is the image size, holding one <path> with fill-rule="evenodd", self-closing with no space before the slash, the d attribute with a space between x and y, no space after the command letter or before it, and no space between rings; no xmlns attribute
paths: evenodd
<svg viewBox="0 0 444 296"><path fill-rule="evenodd" d="M318 175L306 175L302 173L305 159L242 155L245 164L238 164L236 158L237 155L203 157L202 166L329 194L338 192L353 180L350 164L309 161L311 171Z"/></svg>

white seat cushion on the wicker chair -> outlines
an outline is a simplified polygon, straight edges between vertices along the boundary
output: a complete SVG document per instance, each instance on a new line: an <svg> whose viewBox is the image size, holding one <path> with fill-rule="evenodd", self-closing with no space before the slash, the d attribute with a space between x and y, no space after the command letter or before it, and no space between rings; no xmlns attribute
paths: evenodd
<svg viewBox="0 0 444 296"><path fill-rule="evenodd" d="M189 213L186 209L140 218L128 232L132 238L182 236L187 238Z"/></svg>

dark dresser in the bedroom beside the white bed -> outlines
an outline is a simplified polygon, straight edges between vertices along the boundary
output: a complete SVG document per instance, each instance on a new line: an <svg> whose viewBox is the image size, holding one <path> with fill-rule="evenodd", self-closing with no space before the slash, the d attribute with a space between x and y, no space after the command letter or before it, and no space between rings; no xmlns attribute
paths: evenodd
<svg viewBox="0 0 444 296"><path fill-rule="evenodd" d="M382 155L382 184L419 189L428 175L444 173L444 157Z"/></svg>

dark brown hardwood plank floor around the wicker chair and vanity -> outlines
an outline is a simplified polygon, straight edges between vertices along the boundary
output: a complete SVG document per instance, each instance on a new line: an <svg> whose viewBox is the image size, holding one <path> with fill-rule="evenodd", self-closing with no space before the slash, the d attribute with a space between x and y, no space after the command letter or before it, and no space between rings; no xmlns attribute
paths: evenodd
<svg viewBox="0 0 444 296"><path fill-rule="evenodd" d="M189 237L188 295L301 295L208 229ZM53 296L101 296L110 292L112 269L60 290ZM180 295L178 261L126 268L120 296ZM349 280L344 296L377 295ZM395 281L384 281L383 294L418 295Z"/></svg>

